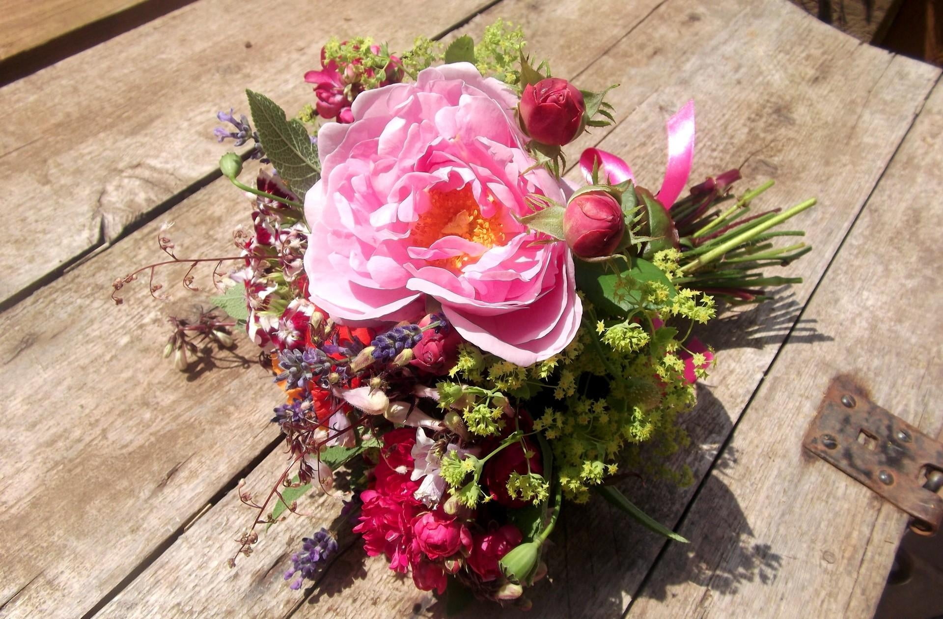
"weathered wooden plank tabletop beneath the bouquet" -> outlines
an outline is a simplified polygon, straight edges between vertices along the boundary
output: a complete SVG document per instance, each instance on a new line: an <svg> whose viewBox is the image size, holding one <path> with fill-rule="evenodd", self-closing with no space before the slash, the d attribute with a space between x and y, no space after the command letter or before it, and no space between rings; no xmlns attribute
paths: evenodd
<svg viewBox="0 0 943 619"><path fill-rule="evenodd" d="M244 338L244 362L191 376L160 359L166 316L205 297L163 305L141 284L116 308L108 293L157 259L162 222L178 255L208 255L248 220L211 136L215 110L246 109L242 89L298 109L330 35L396 49L497 17L555 75L620 82L618 125L573 152L598 144L656 182L664 119L693 97L694 180L742 165L741 188L776 179L770 205L819 197L796 223L815 246L789 269L805 282L710 328L720 362L676 460L694 483L624 489L691 544L568 505L532 616L873 612L906 518L801 442L838 373L924 432L943 426L939 70L786 0L197 0L0 89L0 616L441 615L383 561L361 567L359 544L316 592L283 584L290 552L338 513L330 498L227 569L253 517L237 483L261 492L284 462L277 390Z"/></svg>

